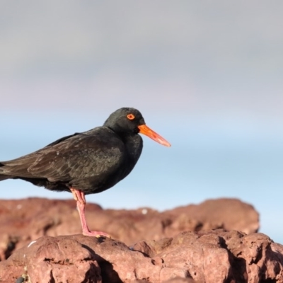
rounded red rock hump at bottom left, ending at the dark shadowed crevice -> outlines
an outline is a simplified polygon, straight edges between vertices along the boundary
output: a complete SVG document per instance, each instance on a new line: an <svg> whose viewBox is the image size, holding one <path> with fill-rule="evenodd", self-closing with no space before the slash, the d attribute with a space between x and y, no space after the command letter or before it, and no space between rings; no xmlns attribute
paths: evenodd
<svg viewBox="0 0 283 283"><path fill-rule="evenodd" d="M3 262L0 278L16 282L23 277L30 282L101 282L101 270L93 253L81 243L67 238L43 237L31 242ZM10 281L9 281L10 280ZM54 281L55 280L55 281Z"/></svg>

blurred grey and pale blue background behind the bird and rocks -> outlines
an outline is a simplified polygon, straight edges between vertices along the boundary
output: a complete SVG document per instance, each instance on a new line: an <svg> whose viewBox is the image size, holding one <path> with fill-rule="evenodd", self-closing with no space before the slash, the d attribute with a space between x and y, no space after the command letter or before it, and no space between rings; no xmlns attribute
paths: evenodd
<svg viewBox="0 0 283 283"><path fill-rule="evenodd" d="M283 243L282 1L1 1L0 160L134 107L168 139L144 137L134 171L89 195L158 210L236 197ZM0 198L71 198L20 180ZM235 212L237 213L237 212Z"/></svg>

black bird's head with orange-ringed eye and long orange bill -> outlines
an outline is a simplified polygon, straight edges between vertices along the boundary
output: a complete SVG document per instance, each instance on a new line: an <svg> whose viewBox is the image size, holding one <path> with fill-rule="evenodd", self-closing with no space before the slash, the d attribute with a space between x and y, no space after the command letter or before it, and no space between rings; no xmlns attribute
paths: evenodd
<svg viewBox="0 0 283 283"><path fill-rule="evenodd" d="M145 134L159 144L163 144L163 146L171 146L166 139L163 139L163 137L146 126L141 112L134 108L120 108L112 112L103 126L110 127L110 129L120 134Z"/></svg>

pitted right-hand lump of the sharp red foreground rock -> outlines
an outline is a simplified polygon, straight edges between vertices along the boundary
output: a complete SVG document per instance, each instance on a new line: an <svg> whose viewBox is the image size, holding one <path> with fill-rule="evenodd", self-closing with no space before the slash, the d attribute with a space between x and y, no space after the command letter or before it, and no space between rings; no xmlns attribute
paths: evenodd
<svg viewBox="0 0 283 283"><path fill-rule="evenodd" d="M197 282L283 282L283 246L262 233L183 232L166 244L161 242L146 243L151 257L163 259L161 279L177 270L187 271L179 276ZM143 246L137 243L133 248L144 251Z"/></svg>

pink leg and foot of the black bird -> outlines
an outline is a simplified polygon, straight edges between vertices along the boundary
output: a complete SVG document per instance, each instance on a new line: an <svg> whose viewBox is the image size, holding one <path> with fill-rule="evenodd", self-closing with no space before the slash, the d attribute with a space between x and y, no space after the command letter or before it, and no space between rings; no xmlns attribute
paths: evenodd
<svg viewBox="0 0 283 283"><path fill-rule="evenodd" d="M71 193L74 195L74 199L76 200L76 207L79 211L79 216L81 219L81 227L83 229L83 235L85 236L95 236L95 237L100 237L100 236L105 236L109 237L110 236L107 233L101 232L101 231L90 231L88 229L88 225L86 224L86 216L84 214L84 209L86 207L86 197L84 196L84 193L81 192L81 190L76 190L71 187Z"/></svg>

